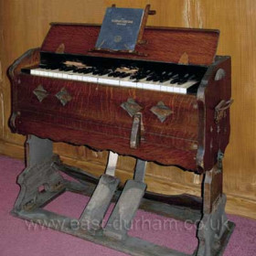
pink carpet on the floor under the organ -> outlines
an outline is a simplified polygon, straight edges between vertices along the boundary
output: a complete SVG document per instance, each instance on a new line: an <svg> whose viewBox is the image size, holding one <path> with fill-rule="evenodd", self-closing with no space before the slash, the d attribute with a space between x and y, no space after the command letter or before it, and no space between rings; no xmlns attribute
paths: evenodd
<svg viewBox="0 0 256 256"><path fill-rule="evenodd" d="M16 159L0 156L0 256L122 256L122 252L113 251L86 240L67 234L32 225L22 219L12 217L13 208L19 191L16 176L23 170L24 164ZM87 197L65 193L51 204L48 209L78 218ZM224 256L256 255L256 221L230 216L236 223ZM140 210L133 221L130 235L178 251L192 253L197 246L196 228L184 222L167 219Z"/></svg>

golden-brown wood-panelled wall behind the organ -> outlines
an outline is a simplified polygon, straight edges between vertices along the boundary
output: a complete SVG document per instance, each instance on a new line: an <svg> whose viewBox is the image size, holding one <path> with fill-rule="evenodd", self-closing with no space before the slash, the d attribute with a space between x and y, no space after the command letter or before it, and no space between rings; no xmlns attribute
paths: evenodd
<svg viewBox="0 0 256 256"><path fill-rule="evenodd" d="M14 150L24 137L10 133L10 85L5 75L8 66L28 48L41 45L50 22L100 24L111 0L1 0L0 1L0 153L21 157ZM147 25L160 27L202 27L220 30L219 55L230 55L232 63L231 136L224 158L224 192L228 194L229 212L255 218L256 202L256 2L254 0L120 0L117 6L144 7L150 3L156 16ZM2 124L3 123L3 124ZM55 151L73 164L98 163L102 166L107 153L94 153L85 147L55 144ZM82 162L82 161L86 162ZM133 159L122 157L119 175L133 171ZM93 165L94 166L94 165ZM94 170L91 167L91 171ZM101 167L101 171L103 167ZM150 164L147 168L149 187L159 192L198 193L198 176L176 168ZM156 182L157 181L157 182ZM165 184L164 184L165 183ZM171 187L173 186L173 187ZM185 188L187 187L187 188ZM190 189L190 190L189 190ZM188 191L189 190L189 191ZM236 199L234 199L236 198ZM238 207L239 206L239 207Z"/></svg>

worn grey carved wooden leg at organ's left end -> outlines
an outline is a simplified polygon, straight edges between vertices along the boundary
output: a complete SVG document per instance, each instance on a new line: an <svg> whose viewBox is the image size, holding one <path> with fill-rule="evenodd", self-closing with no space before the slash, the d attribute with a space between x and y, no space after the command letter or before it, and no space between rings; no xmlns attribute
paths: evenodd
<svg viewBox="0 0 256 256"><path fill-rule="evenodd" d="M18 176L20 193L13 209L14 214L29 211L46 203L63 192L63 178L54 167L59 162L52 154L52 143L29 135L26 144L27 168Z"/></svg>

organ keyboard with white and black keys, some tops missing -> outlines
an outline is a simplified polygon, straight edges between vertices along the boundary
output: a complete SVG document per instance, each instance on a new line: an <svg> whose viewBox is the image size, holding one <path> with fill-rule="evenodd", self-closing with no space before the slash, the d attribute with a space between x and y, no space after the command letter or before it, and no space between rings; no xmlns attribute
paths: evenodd
<svg viewBox="0 0 256 256"><path fill-rule="evenodd" d="M101 63L101 59L94 59L94 61ZM144 66L142 63L137 64L137 66L135 66L136 63L133 63L133 66L101 67L99 64L98 66L91 66L86 62L69 60L67 64L62 62L52 66L49 63L39 66L37 69L23 69L22 71L41 77L184 94L197 91L196 86L198 86L205 71L203 68L198 68L197 73L194 73L196 70L193 70L192 73L190 70L186 71L186 67L178 67L179 69L168 67L171 65L162 65L160 69L159 67L153 69L153 67L146 68L146 64Z"/></svg>

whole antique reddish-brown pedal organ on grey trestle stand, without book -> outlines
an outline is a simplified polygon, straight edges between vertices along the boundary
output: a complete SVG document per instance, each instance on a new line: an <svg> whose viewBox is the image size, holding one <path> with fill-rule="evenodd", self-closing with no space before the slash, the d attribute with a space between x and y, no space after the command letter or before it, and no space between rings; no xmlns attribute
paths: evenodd
<svg viewBox="0 0 256 256"><path fill-rule="evenodd" d="M234 224L227 220L222 194L232 101L230 58L216 56L219 31L146 27L133 52L95 48L99 32L94 25L53 23L42 47L28 50L9 69L10 127L27 135L27 168L18 178L21 193L13 214L40 223L65 220L61 231L132 255L186 256L127 235L122 223L131 226L142 200L144 209L199 221L193 255L221 255ZM52 154L52 141L109 150L105 174L98 180L61 164ZM134 178L114 196L118 154L134 156L137 163ZM154 200L144 199L146 161L204 175L202 197L145 192ZM70 182L57 170L82 181ZM92 194L75 229L75 219L43 209L67 190ZM112 198L116 206L102 227Z"/></svg>

